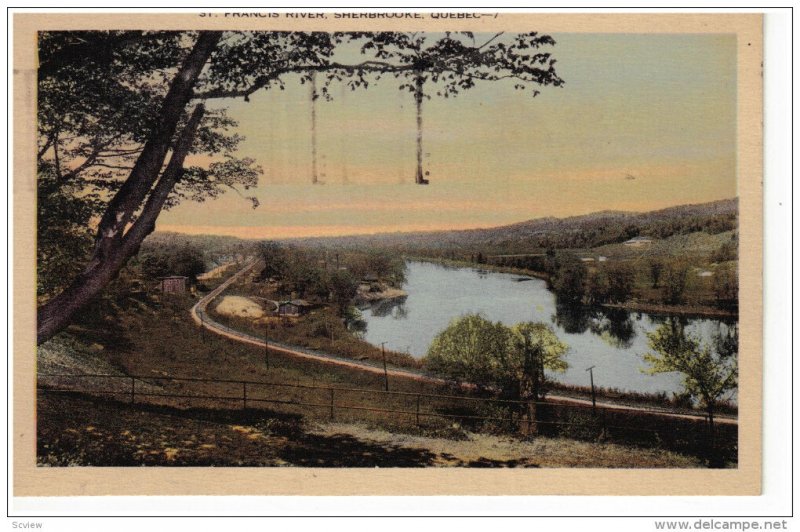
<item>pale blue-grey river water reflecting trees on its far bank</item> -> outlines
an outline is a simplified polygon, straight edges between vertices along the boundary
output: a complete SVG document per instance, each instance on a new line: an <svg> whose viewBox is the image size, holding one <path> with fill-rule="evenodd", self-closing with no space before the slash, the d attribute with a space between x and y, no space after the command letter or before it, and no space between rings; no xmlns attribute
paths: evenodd
<svg viewBox="0 0 800 532"><path fill-rule="evenodd" d="M550 324L570 346L569 369L553 374L566 384L589 385L590 366L596 386L634 392L679 392L676 373L648 375L642 355L648 352L646 333L662 317L622 310L600 311L557 308L555 295L541 279L473 268L453 268L409 261L403 290L408 296L362 309L364 338L387 349L424 357L431 341L451 320L481 313L492 321L513 325L522 321ZM710 341L727 326L719 320L689 319L689 330Z"/></svg>

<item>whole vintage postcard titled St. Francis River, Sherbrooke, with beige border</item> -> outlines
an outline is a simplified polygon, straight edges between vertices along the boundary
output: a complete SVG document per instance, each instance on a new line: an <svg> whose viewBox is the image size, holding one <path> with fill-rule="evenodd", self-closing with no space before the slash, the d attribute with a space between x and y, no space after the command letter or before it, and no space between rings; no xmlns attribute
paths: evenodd
<svg viewBox="0 0 800 532"><path fill-rule="evenodd" d="M760 493L760 15L13 28L17 496Z"/></svg>

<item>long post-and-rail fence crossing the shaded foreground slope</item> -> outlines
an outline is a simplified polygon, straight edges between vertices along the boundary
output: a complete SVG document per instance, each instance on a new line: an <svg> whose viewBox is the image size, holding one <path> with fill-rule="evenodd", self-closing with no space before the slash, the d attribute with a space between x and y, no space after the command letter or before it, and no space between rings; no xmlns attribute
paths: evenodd
<svg viewBox="0 0 800 532"><path fill-rule="evenodd" d="M104 374L39 374L38 389L43 393L108 397L132 405L243 410L254 416L259 411L270 415L270 411L318 420L376 422L390 428L455 426L471 431L538 433L692 454L706 453L709 445L707 424L702 418L551 400L514 401L287 382ZM735 460L738 427L718 425L716 434L721 451Z"/></svg>

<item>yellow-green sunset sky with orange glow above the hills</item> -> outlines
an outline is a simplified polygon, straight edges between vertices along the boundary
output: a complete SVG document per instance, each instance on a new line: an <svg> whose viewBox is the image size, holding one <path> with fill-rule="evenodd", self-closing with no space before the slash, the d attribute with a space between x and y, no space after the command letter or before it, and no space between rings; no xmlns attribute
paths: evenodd
<svg viewBox="0 0 800 532"><path fill-rule="evenodd" d="M482 36L476 35L480 42ZM489 36L485 36L488 38ZM532 98L483 83L423 104L414 183L412 95L384 78L318 100L311 184L308 85L225 100L259 186L162 213L157 229L288 238L492 227L602 210L648 211L736 196L734 34L553 34L563 87Z"/></svg>

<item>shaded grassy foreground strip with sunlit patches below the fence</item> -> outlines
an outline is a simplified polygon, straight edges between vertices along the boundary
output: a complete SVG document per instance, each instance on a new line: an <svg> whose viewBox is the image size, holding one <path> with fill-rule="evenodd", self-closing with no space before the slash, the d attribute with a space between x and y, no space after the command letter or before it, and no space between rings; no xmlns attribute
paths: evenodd
<svg viewBox="0 0 800 532"><path fill-rule="evenodd" d="M408 435L281 412L130 406L40 393L43 466L702 467L692 457L540 437Z"/></svg>

